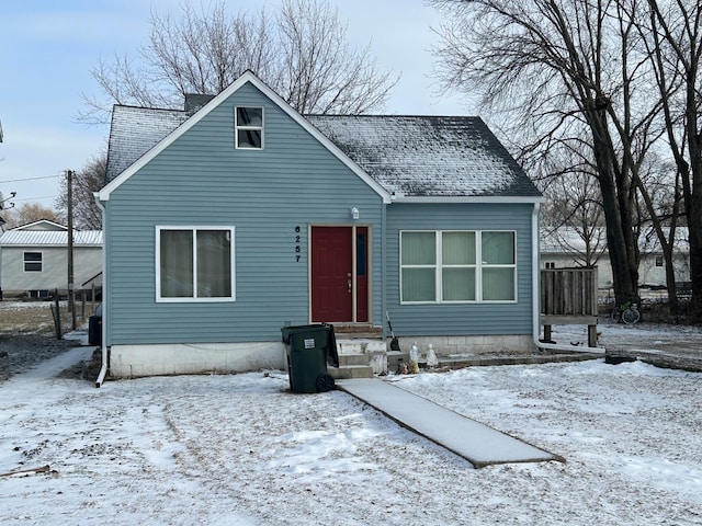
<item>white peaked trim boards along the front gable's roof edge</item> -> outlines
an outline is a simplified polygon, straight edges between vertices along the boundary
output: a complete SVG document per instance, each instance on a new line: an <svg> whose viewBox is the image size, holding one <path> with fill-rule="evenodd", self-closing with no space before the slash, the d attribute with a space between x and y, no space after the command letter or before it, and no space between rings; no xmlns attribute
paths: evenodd
<svg viewBox="0 0 702 526"><path fill-rule="evenodd" d="M283 112L285 112L293 121L295 121L301 127L303 127L309 135L312 135L317 141L319 141L327 150L329 150L335 157L337 157L343 164L346 164L353 173L355 173L365 184L367 184L373 191L375 191L384 203L390 203L390 194L373 178L365 173L355 162L353 162L343 151L341 151L331 140L325 137L317 128L315 128L305 117L297 113L283 98L270 89L251 71L246 71L241 77L234 81L226 90L215 96L212 101L205 104L197 113L185 121L181 126L174 129L160 140L154 148L141 156L129 168L124 170L114 180L107 183L95 195L100 201L110 201L110 195L116 188L127 181L132 175L141 170L148 162L154 160L166 148L172 145L178 138L185 134L190 128L195 126L201 119L206 117L210 112L226 101L229 96L236 93L246 83L251 83L259 91L261 91L271 102L278 105Z"/></svg>

